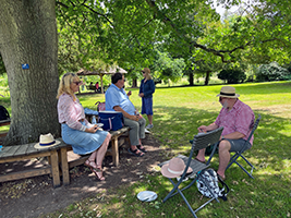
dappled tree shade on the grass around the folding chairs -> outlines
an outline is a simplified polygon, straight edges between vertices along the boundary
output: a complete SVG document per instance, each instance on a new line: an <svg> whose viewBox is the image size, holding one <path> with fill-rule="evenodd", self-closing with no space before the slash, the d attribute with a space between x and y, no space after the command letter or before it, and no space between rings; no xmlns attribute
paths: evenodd
<svg viewBox="0 0 291 218"><path fill-rule="evenodd" d="M232 166L227 171L226 182L231 190L228 201L221 201L220 204L213 202L197 213L198 217L288 217L290 215L290 208L287 207L291 203L289 187L291 152L290 137L287 134L290 120L269 116L259 110L255 111L255 114L257 113L262 114L262 121L255 134L254 146L245 152L247 159L256 167L253 173L255 179L248 178L239 167ZM187 155L191 149L189 141L197 133L197 128L201 124L211 123L217 114L218 111L209 112L207 109L155 107L155 126L151 132L161 147L156 147L160 156L153 164L170 159L177 153ZM146 156L150 157L157 150ZM217 169L217 167L218 157L216 156L211 161L211 168ZM125 175L122 171L119 173ZM98 189L102 187L99 183L98 186ZM192 217L180 195L171 197L165 204L161 203L171 189L172 184L161 175L159 170L148 171L143 179L137 179L131 185L108 189L102 196L87 198L71 207L75 213L78 213L82 207L83 214L94 215L95 211L92 208L98 205L102 217ZM156 192L158 198L150 203L140 202L136 194L145 190ZM81 191L84 192L82 189ZM201 199L195 185L183 193L194 209L206 202L206 197ZM88 205L88 208L81 205L84 207ZM63 214L63 210L59 214Z"/></svg>

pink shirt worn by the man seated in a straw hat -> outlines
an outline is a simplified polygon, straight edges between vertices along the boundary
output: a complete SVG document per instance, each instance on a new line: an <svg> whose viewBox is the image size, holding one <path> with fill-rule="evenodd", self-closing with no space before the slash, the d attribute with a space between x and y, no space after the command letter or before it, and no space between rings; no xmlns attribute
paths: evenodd
<svg viewBox="0 0 291 218"><path fill-rule="evenodd" d="M225 128L221 135L240 132L245 135L243 140L247 140L254 124L254 120L255 116L250 106L238 99L230 111L225 108L220 110L215 124ZM250 141L252 145L253 141L254 135Z"/></svg>

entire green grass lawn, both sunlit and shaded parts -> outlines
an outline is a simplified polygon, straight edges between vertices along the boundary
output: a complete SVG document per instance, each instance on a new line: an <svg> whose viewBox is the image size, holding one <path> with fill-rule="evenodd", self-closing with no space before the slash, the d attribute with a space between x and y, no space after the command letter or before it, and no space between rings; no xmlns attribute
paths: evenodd
<svg viewBox="0 0 291 218"><path fill-rule="evenodd" d="M256 116L262 114L254 146L244 154L256 167L255 179L232 166L226 173L226 183L230 187L228 201L213 202L197 216L291 217L291 83L252 83L234 87L241 95L240 99L251 106ZM190 153L189 141L197 133L197 128L211 123L221 108L216 97L220 88L221 85L156 89L153 134L159 140L160 149L165 150L161 158ZM138 89L132 89L132 101L141 109ZM104 95L78 98L84 107L96 109L94 104L104 100ZM171 152L166 152L166 148L171 148ZM218 168L217 156L211 167ZM171 189L171 183L157 167L135 184L107 190L44 217L192 217L180 195L161 203ZM151 203L140 202L136 194L144 190L155 191L158 198ZM206 199L199 199L196 186L184 194L193 208Z"/></svg>

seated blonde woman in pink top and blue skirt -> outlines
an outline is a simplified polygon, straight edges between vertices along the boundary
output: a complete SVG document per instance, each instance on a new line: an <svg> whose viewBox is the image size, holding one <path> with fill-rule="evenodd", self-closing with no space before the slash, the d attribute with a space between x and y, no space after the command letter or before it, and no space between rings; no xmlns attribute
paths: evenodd
<svg viewBox="0 0 291 218"><path fill-rule="evenodd" d="M111 135L86 120L84 108L74 94L81 84L80 78L73 73L65 73L60 81L57 98L62 140L72 145L75 154L92 154L85 166L89 167L99 180L105 180L102 160Z"/></svg>

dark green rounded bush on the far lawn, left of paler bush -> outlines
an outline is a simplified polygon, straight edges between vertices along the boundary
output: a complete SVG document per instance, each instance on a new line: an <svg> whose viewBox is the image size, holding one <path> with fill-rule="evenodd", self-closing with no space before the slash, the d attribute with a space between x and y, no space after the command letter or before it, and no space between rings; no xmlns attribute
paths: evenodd
<svg viewBox="0 0 291 218"><path fill-rule="evenodd" d="M246 75L241 70L235 69L228 69L222 70L218 73L218 77L220 80L228 81L228 84L237 84L237 83L243 83L246 78Z"/></svg>

